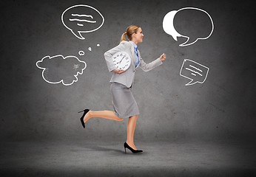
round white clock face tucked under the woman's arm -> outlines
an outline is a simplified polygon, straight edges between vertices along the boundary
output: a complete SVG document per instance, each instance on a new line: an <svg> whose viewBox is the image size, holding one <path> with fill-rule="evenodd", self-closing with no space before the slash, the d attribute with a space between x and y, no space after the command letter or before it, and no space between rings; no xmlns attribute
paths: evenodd
<svg viewBox="0 0 256 177"><path fill-rule="evenodd" d="M116 52L112 56L112 60L115 63L116 69L127 70L131 64L131 58L129 57L127 52Z"/></svg>

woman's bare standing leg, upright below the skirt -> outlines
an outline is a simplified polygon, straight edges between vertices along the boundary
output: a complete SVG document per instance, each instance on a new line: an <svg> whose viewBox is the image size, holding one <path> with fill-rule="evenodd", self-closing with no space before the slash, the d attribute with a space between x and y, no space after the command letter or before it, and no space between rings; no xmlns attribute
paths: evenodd
<svg viewBox="0 0 256 177"><path fill-rule="evenodd" d="M133 142L133 135L135 131L135 125L138 115L129 117L127 121L127 144L132 147L132 149L136 149L134 142Z"/></svg>

